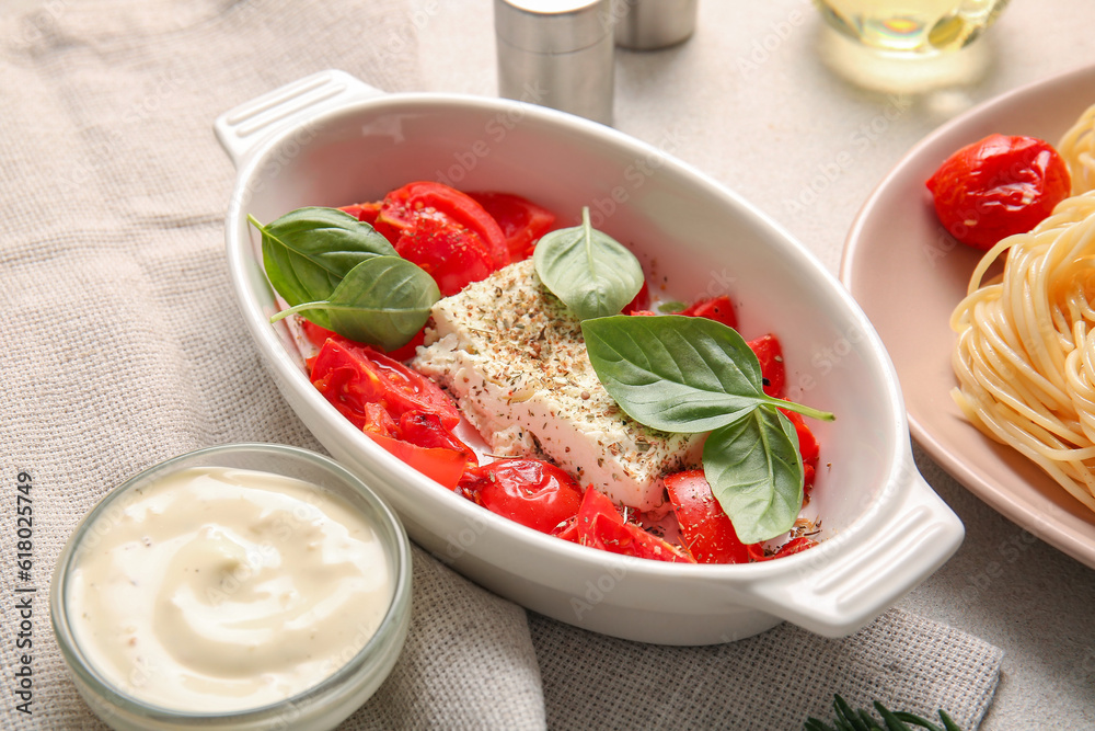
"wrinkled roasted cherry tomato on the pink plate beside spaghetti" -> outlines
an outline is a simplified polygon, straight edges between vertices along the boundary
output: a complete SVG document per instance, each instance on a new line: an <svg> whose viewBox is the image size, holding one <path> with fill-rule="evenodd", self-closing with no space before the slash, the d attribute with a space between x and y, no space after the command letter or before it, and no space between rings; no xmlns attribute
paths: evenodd
<svg viewBox="0 0 1095 731"><path fill-rule="evenodd" d="M967 145L927 180L940 221L976 249L1029 231L1068 197L1071 186L1069 169L1052 146L1004 135Z"/></svg>

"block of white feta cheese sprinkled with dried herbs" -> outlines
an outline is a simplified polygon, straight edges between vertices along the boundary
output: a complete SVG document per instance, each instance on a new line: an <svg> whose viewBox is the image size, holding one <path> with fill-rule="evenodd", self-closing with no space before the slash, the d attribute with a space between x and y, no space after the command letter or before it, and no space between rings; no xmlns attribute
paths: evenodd
<svg viewBox="0 0 1095 731"><path fill-rule="evenodd" d="M492 454L548 457L643 511L664 502L664 475L699 465L703 435L652 430L620 410L578 320L531 260L441 299L430 317L412 365L456 398Z"/></svg>

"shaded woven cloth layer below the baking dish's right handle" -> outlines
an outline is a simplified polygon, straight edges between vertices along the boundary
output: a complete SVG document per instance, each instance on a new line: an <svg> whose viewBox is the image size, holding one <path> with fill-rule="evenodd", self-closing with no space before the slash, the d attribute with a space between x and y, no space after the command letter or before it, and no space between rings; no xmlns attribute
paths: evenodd
<svg viewBox="0 0 1095 731"><path fill-rule="evenodd" d="M664 648L593 635L530 614L553 729L800 729L829 721L840 694L976 729L1003 653L977 638L891 609L830 640L793 625L706 648ZM875 713L877 718L877 713Z"/></svg>

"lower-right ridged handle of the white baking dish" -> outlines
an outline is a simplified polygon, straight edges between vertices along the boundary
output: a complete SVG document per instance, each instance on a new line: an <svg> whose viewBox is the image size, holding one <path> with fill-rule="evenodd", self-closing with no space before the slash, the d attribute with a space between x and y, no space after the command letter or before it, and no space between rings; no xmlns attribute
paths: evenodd
<svg viewBox="0 0 1095 731"><path fill-rule="evenodd" d="M826 637L864 627L958 550L965 528L921 477L907 453L898 477L876 504L889 506L863 530L837 534L794 557L795 575L754 583L758 608ZM848 545L841 546L840 544ZM787 560L787 559L781 559Z"/></svg>

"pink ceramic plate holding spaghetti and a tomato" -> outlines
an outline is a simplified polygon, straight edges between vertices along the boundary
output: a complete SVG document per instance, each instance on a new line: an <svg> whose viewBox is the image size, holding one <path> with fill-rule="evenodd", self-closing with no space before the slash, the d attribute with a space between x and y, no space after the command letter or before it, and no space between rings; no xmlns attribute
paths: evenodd
<svg viewBox="0 0 1095 731"><path fill-rule="evenodd" d="M913 438L1004 516L1095 568L1095 515L1016 452L984 437L952 401L950 312L979 252L956 244L924 187L940 163L991 133L1056 145L1095 104L1095 66L1024 87L970 110L918 144L867 199L844 245L840 278L897 367Z"/></svg>

